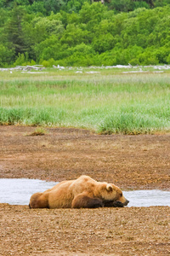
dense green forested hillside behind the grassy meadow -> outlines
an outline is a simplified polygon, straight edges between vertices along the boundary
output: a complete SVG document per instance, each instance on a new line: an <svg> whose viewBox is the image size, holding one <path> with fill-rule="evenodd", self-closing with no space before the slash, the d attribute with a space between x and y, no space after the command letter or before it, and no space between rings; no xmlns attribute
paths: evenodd
<svg viewBox="0 0 170 256"><path fill-rule="evenodd" d="M170 0L0 0L0 67L170 63Z"/></svg>

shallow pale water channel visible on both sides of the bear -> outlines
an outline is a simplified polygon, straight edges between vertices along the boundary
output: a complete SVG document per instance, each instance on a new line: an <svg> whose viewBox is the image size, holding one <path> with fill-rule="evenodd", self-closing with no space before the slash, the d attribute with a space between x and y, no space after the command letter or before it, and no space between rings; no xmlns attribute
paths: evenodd
<svg viewBox="0 0 170 256"><path fill-rule="evenodd" d="M27 178L0 178L0 203L28 205L30 197L36 192L52 188L56 183ZM124 191L128 207L170 207L170 192L161 190Z"/></svg>

